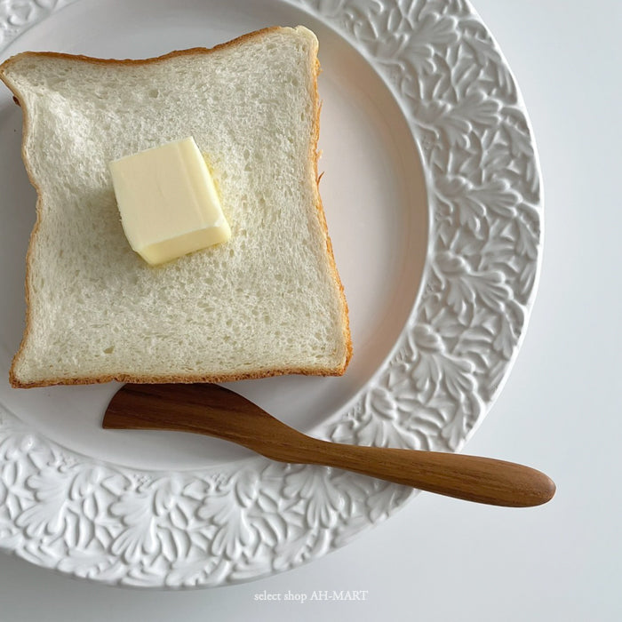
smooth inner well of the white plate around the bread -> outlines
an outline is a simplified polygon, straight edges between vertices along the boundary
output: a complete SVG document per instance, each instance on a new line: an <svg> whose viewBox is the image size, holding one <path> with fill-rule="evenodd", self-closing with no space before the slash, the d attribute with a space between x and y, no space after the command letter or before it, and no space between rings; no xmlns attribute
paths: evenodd
<svg viewBox="0 0 622 622"><path fill-rule="evenodd" d="M279 2L81 0L20 36L24 50L145 58L211 46L270 25L312 28L320 41L323 100L320 184L335 259L346 290L354 357L342 378L283 377L232 383L279 419L309 430L341 411L390 354L415 304L427 249L427 196L418 150L387 86L354 48L303 12ZM84 20L89 32L79 28ZM140 28L139 28L140 27ZM100 429L116 383L11 389L8 370L23 330L24 275L36 193L20 155L21 111L0 91L0 403L70 450L138 468L200 468L251 453L195 435ZM70 227L70 223L68 223Z"/></svg>

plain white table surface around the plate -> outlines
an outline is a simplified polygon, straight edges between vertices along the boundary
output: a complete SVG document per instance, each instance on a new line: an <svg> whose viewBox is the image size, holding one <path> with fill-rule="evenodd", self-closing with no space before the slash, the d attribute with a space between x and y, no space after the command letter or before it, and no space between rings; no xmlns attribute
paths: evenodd
<svg viewBox="0 0 622 622"><path fill-rule="evenodd" d="M421 494L307 566L195 592L97 586L0 555L2 622L622 619L622 3L474 5L529 109L546 227L522 351L466 452L545 471L554 500L504 509ZM366 600L256 600L321 590Z"/></svg>

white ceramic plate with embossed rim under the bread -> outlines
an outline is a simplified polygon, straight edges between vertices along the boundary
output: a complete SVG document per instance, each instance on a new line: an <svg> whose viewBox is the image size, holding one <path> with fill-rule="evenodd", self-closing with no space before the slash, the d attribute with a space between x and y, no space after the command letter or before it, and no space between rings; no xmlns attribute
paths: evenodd
<svg viewBox="0 0 622 622"><path fill-rule="evenodd" d="M522 100L469 4L9 0L0 4L0 54L141 58L274 24L304 24L320 40L321 190L355 355L340 379L233 387L323 438L457 451L518 351L542 231L538 161ZM401 486L271 463L213 439L103 431L116 384L10 388L36 200L20 128L20 108L4 89L4 551L109 584L219 586L326 554L411 498Z"/></svg>

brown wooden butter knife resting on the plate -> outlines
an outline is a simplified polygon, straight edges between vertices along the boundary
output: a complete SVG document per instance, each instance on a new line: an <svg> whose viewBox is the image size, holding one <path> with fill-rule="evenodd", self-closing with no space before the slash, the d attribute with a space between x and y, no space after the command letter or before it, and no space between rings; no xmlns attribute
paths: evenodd
<svg viewBox="0 0 622 622"><path fill-rule="evenodd" d="M219 385L124 385L102 425L216 436L280 462L334 466L495 506L538 506L555 491L546 474L504 460L321 441Z"/></svg>

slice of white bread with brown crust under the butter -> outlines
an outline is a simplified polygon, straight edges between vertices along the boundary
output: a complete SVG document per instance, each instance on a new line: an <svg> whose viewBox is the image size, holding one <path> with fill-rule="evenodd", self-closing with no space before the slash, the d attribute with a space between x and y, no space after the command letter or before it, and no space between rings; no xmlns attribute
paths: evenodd
<svg viewBox="0 0 622 622"><path fill-rule="evenodd" d="M318 191L317 39L267 28L149 60L24 52L0 66L36 187L13 387L340 375L347 303ZM229 242L149 267L108 163L193 136Z"/></svg>

